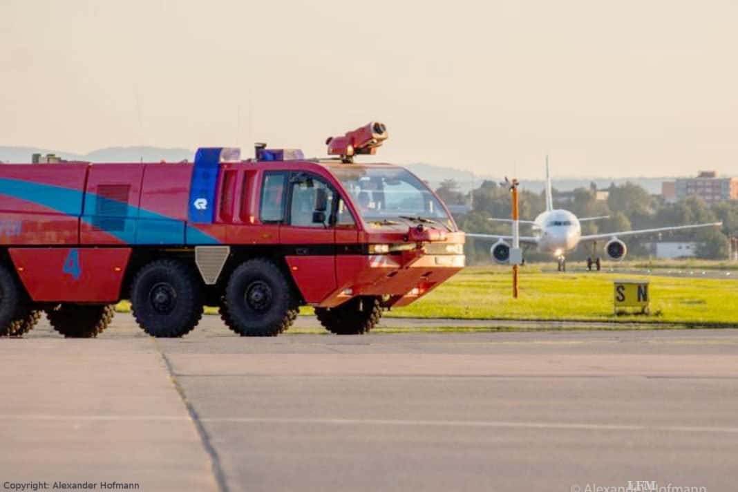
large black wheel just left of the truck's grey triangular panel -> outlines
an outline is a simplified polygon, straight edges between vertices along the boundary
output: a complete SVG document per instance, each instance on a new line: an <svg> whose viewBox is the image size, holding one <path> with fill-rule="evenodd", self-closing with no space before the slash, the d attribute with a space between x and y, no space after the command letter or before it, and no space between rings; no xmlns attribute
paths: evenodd
<svg viewBox="0 0 738 492"><path fill-rule="evenodd" d="M131 311L151 336L173 338L190 333L202 317L204 294L196 272L178 260L154 260L131 285Z"/></svg>

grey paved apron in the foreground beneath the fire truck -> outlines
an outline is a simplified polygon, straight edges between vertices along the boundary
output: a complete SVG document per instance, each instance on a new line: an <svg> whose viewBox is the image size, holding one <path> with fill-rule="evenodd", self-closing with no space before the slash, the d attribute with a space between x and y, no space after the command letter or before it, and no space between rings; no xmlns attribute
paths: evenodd
<svg viewBox="0 0 738 492"><path fill-rule="evenodd" d="M46 323L0 339L0 371L2 490L728 491L738 479L732 329L244 339L210 316L155 340L119 315L100 339Z"/></svg>

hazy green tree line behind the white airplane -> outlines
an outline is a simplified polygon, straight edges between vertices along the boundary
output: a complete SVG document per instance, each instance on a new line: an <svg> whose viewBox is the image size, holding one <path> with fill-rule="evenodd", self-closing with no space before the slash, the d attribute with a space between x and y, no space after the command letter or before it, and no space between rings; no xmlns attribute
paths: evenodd
<svg viewBox="0 0 738 492"><path fill-rule="evenodd" d="M509 218L511 216L511 198L507 186L494 181L483 181L480 187L469 193L459 190L453 179L446 179L435 190L446 204L471 204L469 212L458 213L455 220L465 232L482 232L489 234L510 235L510 225L487 220L488 218ZM722 228L695 229L693 231L667 232L662 235L644 235L627 238L628 257L649 257L651 250L648 243L655 241L693 241L697 243L697 257L722 260L728 257L729 240L738 236L738 201L721 201L708 205L701 198L690 197L677 203L666 203L663 197L650 195L638 184L611 184L607 191L607 200L597 199L597 188L591 184L589 188L577 188L567 193L562 200L561 194L554 190L554 208L570 210L577 217L596 217L610 215L600 221L582 223L582 235L627 231L630 229L652 229L655 227L680 226L702 222L722 221ZM545 192L531 193L520 190L520 218L532 221L545 210ZM521 226L521 235L531 235L530 226ZM467 240L469 261L489 261L489 241ZM599 244L601 248L604 244ZM583 260L591 254L590 248L582 244L569 254L571 260ZM597 255L604 256L602 250ZM550 260L545 254L531 249L525 255L528 260Z"/></svg>

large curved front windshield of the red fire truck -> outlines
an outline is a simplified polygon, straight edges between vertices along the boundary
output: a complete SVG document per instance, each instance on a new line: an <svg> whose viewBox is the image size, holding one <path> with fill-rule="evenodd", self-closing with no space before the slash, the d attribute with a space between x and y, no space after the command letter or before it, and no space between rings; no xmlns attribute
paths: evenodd
<svg viewBox="0 0 738 492"><path fill-rule="evenodd" d="M351 195L362 218L370 223L392 225L407 221L435 222L452 230L446 210L426 184L401 167L333 168Z"/></svg>

